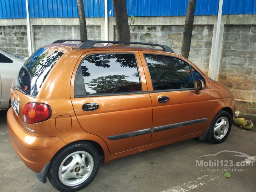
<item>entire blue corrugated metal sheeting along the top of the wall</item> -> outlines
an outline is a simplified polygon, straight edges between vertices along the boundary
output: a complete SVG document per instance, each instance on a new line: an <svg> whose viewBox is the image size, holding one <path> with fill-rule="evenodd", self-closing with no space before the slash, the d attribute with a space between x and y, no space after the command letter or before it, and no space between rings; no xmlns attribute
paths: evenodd
<svg viewBox="0 0 256 192"><path fill-rule="evenodd" d="M0 19L26 18L25 0L0 0ZM77 0L28 0L31 18L78 17ZM112 0L107 1L113 17ZM128 16L186 15L188 0L126 0ZM104 17L104 0L84 0L85 17ZM217 15L218 0L197 0L195 15ZM223 0L222 14L255 14L255 0Z"/></svg>

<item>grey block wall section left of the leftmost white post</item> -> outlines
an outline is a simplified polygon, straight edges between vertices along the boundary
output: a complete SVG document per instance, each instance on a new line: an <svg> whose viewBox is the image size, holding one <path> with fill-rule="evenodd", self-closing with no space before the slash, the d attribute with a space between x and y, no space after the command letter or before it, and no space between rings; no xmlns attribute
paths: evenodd
<svg viewBox="0 0 256 192"><path fill-rule="evenodd" d="M26 25L0 26L0 47L10 53L28 56Z"/></svg>

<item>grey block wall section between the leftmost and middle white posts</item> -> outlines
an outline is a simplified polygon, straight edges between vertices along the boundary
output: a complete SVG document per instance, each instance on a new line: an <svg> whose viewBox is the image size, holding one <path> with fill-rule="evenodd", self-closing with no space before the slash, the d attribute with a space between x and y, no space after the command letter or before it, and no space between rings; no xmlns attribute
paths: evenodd
<svg viewBox="0 0 256 192"><path fill-rule="evenodd" d="M80 39L77 25L34 25L35 49L58 39ZM89 40L101 40L101 26L87 26Z"/></svg>

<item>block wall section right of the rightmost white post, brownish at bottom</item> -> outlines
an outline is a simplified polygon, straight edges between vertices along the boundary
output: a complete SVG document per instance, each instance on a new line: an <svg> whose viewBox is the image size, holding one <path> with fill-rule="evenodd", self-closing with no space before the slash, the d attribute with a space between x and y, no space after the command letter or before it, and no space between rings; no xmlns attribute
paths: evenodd
<svg viewBox="0 0 256 192"><path fill-rule="evenodd" d="M255 25L225 25L219 82L235 98L255 100Z"/></svg>

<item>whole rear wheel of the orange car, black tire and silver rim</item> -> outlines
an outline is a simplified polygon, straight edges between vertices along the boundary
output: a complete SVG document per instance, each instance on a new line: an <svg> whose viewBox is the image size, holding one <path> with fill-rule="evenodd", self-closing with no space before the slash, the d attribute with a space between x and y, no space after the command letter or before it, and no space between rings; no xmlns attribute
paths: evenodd
<svg viewBox="0 0 256 192"><path fill-rule="evenodd" d="M92 182L99 171L99 152L90 143L76 142L52 158L48 179L59 191L78 191Z"/></svg>

